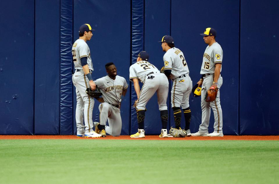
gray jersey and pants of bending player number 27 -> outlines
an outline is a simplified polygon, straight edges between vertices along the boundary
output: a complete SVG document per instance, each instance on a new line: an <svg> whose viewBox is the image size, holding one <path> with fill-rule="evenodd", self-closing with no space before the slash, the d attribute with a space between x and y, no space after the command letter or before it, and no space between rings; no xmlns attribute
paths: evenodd
<svg viewBox="0 0 279 184"><path fill-rule="evenodd" d="M157 92L159 110L167 110L167 98L169 91L169 80L167 76L151 63L139 61L130 66L130 81L138 79L143 83L140 91L138 110L144 110L147 102Z"/></svg>

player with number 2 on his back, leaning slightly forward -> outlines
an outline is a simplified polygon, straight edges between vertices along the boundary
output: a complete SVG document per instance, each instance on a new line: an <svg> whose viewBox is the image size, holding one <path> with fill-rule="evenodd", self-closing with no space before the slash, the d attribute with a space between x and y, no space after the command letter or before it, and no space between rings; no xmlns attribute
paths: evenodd
<svg viewBox="0 0 279 184"><path fill-rule="evenodd" d="M180 128L181 109L185 117L184 133L191 136L189 129L191 110L189 107L189 95L192 91L192 80L189 76L189 68L183 52L174 46L174 39L166 35L160 41L164 52L164 73L173 81L171 89L171 107L174 111L175 128ZM171 132L170 132L171 133ZM173 135L174 136L174 135Z"/></svg>

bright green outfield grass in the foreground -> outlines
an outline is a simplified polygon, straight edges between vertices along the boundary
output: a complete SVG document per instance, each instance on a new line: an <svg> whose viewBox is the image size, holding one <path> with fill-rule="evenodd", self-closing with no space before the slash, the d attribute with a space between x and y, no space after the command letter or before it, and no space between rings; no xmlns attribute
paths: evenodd
<svg viewBox="0 0 279 184"><path fill-rule="evenodd" d="M0 140L0 183L278 183L279 141Z"/></svg>

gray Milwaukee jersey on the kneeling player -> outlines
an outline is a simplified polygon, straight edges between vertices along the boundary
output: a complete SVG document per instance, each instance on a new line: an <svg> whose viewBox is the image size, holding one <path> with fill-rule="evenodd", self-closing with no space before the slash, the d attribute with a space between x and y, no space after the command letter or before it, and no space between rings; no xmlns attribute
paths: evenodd
<svg viewBox="0 0 279 184"><path fill-rule="evenodd" d="M116 76L115 80L108 75L94 81L103 93L105 102L120 105L122 90L128 88L128 84L124 77Z"/></svg>

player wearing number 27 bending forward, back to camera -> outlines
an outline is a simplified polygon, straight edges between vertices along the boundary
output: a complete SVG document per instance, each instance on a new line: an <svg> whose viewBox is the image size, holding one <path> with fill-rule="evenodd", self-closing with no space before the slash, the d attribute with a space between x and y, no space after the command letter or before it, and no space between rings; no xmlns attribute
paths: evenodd
<svg viewBox="0 0 279 184"><path fill-rule="evenodd" d="M130 66L130 81L134 83L137 93L135 107L137 110L138 132L131 135L131 138L144 138L145 106L150 98L157 92L158 105L162 121L160 138L169 137L167 134L168 109L167 98L169 80L153 64L148 62L149 54L141 51L137 62ZM143 83L140 90L139 81Z"/></svg>

